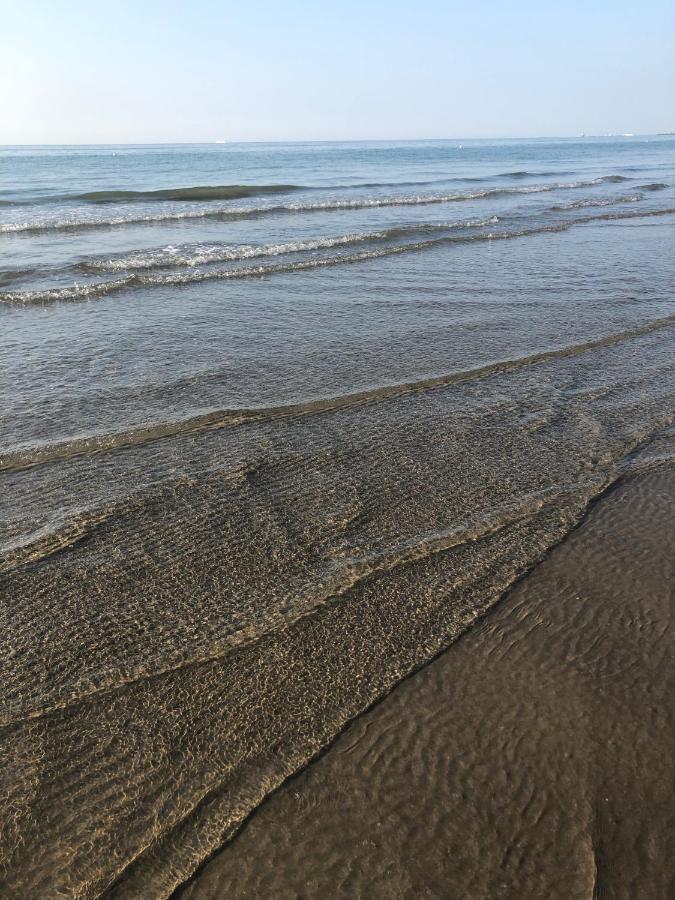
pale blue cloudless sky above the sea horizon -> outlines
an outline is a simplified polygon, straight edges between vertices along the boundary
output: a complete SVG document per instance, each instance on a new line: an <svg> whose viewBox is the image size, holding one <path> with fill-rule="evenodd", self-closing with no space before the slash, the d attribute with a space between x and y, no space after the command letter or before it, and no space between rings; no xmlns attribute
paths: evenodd
<svg viewBox="0 0 675 900"><path fill-rule="evenodd" d="M663 131L673 0L0 0L0 144Z"/></svg>

